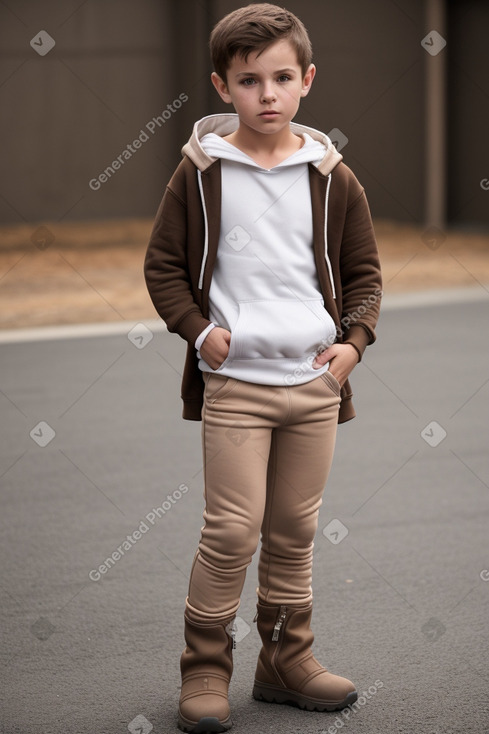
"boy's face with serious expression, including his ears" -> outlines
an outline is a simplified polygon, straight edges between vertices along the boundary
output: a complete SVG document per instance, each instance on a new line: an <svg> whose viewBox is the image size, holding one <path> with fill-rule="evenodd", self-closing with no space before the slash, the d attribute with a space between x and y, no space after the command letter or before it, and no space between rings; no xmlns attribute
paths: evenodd
<svg viewBox="0 0 489 734"><path fill-rule="evenodd" d="M240 123L257 133L280 132L295 117L301 97L309 93L316 67L304 78L290 41L276 41L245 61L235 56L224 82L215 72L212 82L224 102L234 105Z"/></svg>

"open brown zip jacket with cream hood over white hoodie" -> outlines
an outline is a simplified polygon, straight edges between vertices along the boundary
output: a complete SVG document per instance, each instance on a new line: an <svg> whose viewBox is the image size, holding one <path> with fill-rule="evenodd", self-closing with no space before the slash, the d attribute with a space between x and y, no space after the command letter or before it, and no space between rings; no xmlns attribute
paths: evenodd
<svg viewBox="0 0 489 734"><path fill-rule="evenodd" d="M184 158L156 214L144 264L156 310L168 330L187 342L182 378L183 418L187 420L201 420L204 381L194 344L210 324L209 288L221 221L221 161L208 156L199 140L210 132L228 135L237 126L236 114L210 115L195 123L182 149ZM314 258L324 307L336 324L337 341L352 344L361 359L366 346L375 341L382 296L365 192L326 135L297 123L290 126L292 132L307 132L326 146L319 166L308 164ZM351 396L347 380L341 390L340 423L355 416Z"/></svg>

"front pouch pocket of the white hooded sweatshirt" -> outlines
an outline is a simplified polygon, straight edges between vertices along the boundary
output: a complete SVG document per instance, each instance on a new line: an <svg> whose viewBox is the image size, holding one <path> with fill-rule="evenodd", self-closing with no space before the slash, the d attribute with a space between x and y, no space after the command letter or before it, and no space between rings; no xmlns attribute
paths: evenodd
<svg viewBox="0 0 489 734"><path fill-rule="evenodd" d="M336 327L321 299L240 301L229 360L303 359L334 341Z"/></svg>

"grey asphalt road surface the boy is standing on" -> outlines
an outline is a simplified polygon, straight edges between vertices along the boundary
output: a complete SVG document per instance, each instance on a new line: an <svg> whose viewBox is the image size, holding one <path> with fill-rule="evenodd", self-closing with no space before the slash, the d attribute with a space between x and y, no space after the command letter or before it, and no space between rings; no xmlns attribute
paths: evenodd
<svg viewBox="0 0 489 734"><path fill-rule="evenodd" d="M352 377L313 625L316 656L356 682L357 709L347 720L252 699L255 556L236 734L489 732L488 302L384 311ZM184 344L133 336L0 346L6 734L177 732L200 424L180 417Z"/></svg>

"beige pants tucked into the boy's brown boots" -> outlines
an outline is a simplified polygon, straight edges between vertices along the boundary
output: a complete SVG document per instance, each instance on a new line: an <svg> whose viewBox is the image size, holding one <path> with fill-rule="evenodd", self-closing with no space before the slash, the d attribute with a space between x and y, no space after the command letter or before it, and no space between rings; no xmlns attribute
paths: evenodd
<svg viewBox="0 0 489 734"><path fill-rule="evenodd" d="M259 598L308 603L340 386L329 372L292 387L204 381L205 525L187 602L206 617L234 613L261 531Z"/></svg>

